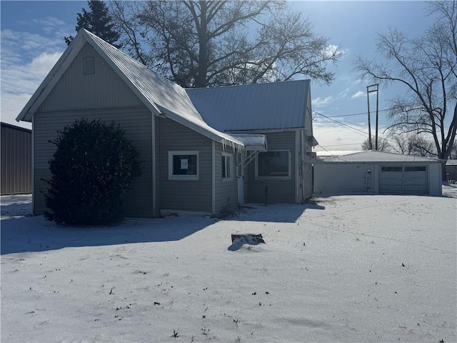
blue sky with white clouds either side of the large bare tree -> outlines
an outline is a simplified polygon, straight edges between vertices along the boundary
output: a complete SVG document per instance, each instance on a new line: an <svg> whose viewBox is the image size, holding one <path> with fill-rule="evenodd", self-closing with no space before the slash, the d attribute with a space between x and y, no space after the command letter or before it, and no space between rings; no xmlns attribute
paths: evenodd
<svg viewBox="0 0 457 343"><path fill-rule="evenodd" d="M76 14L87 1L1 1L1 121L29 127L15 121L59 56L66 49L64 36L75 34ZM356 56L376 56L376 37L389 27L408 36L418 36L433 21L424 1L294 1L292 6L308 16L315 31L338 45L345 55L331 70L331 86L313 83L313 110L357 130L316 115L314 136L327 150L360 149L368 132L366 86L351 69ZM403 94L399 86L381 86L379 109L388 109L388 99ZM374 95L374 94L373 94ZM371 100L370 100L371 101ZM376 101L371 101L371 113ZM348 114L360 114L347 116ZM337 117L341 116L341 117ZM371 120L374 124L374 116ZM387 125L386 111L380 111L380 126ZM373 126L374 129L374 126ZM372 130L373 130L372 129Z"/></svg>

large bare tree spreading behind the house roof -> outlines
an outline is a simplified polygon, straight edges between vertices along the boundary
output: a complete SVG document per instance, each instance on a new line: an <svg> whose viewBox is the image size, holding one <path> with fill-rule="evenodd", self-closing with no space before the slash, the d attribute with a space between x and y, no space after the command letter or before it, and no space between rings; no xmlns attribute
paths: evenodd
<svg viewBox="0 0 457 343"><path fill-rule="evenodd" d="M186 87L283 81L330 84L338 46L280 1L113 1L129 52Z"/></svg>

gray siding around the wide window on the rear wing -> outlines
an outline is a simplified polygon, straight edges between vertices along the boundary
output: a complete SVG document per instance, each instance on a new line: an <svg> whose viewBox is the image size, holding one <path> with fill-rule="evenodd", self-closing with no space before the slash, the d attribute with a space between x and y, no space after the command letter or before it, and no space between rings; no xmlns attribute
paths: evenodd
<svg viewBox="0 0 457 343"><path fill-rule="evenodd" d="M268 151L291 151L290 179L256 179L256 161L248 164L248 181L246 182L248 202L263 204L296 203L296 133L295 131L271 132L266 134ZM265 199L265 187L268 187Z"/></svg>

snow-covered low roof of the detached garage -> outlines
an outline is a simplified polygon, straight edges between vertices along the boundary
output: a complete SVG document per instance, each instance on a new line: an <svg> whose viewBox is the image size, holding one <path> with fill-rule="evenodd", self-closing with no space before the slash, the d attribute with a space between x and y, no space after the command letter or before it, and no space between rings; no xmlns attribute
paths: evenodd
<svg viewBox="0 0 457 343"><path fill-rule="evenodd" d="M430 159L415 155L393 154L384 151L363 151L356 154L332 156L321 159L323 162L438 162L438 159Z"/></svg>

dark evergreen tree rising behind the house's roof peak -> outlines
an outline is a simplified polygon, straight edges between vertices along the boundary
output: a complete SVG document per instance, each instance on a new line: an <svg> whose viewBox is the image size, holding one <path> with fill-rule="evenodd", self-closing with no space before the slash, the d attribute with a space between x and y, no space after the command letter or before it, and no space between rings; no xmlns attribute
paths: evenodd
<svg viewBox="0 0 457 343"><path fill-rule="evenodd" d="M84 28L96 34L109 44L120 48L121 44L116 44L119 39L119 32L114 29L114 23L109 14L109 9L104 1L87 1L89 11L82 8L82 12L76 17L76 31ZM66 45L69 45L74 36L64 37Z"/></svg>

